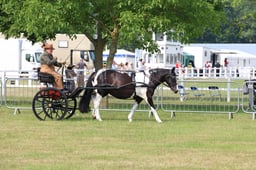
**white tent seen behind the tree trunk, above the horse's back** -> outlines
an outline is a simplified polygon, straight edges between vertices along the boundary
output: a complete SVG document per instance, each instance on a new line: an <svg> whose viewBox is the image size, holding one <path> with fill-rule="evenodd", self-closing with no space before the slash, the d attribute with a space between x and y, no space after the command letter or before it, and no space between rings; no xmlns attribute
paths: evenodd
<svg viewBox="0 0 256 170"><path fill-rule="evenodd" d="M106 50L103 52L103 61L106 62L107 58L109 56L109 50ZM115 57L114 57L114 61L117 64L121 64L121 63L134 63L135 62L135 53L132 53L130 51L124 50L124 49L118 49Z"/></svg>

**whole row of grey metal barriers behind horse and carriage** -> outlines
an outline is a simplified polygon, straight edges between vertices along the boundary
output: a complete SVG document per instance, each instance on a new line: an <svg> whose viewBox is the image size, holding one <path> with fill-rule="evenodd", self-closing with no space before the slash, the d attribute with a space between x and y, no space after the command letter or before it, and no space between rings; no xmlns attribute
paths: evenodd
<svg viewBox="0 0 256 170"><path fill-rule="evenodd" d="M0 72L1 73L1 72ZM8 75L8 74L2 74ZM237 79L235 79L237 80ZM177 112L190 113L220 113L228 114L229 119L234 113L242 110L252 114L253 119L256 114L254 110L255 94L242 94L242 85L238 85L229 78L206 78L206 77L178 77L178 84L183 85L186 96L180 93L174 94L169 88L160 86L156 89L153 98L157 109L171 113L174 116ZM220 96L210 94L209 86L218 86ZM192 91L191 87L196 86L198 91ZM33 77L26 75L2 76L0 82L0 106L5 106L14 110L14 114L21 110L31 109L34 95L38 92L40 83ZM196 94L198 93L198 94ZM200 95L201 94L201 95ZM103 99L101 110L127 111L129 112L134 100L119 100L108 96ZM150 108L143 101L137 111L150 112Z"/></svg>

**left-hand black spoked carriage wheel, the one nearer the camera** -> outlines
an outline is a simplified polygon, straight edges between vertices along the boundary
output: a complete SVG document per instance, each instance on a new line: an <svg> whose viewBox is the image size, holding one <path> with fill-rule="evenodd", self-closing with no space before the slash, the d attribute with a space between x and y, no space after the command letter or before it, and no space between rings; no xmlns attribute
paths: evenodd
<svg viewBox="0 0 256 170"><path fill-rule="evenodd" d="M67 96L56 88L42 89L35 95L32 109L39 120L61 120L68 111Z"/></svg>

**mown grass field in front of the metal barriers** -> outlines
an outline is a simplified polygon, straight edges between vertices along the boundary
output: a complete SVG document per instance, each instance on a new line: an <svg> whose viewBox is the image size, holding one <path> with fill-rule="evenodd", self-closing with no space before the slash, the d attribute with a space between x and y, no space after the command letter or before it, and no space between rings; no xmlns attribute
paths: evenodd
<svg viewBox="0 0 256 170"><path fill-rule="evenodd" d="M238 113L168 113L163 123L136 112L79 111L69 120L38 121L32 111L0 108L0 169L256 169L256 122Z"/></svg>

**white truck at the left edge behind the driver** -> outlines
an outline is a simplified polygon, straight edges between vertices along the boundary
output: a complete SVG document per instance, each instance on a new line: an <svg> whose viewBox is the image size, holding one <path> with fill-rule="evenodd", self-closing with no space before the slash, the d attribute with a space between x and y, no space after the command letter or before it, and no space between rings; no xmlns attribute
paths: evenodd
<svg viewBox="0 0 256 170"><path fill-rule="evenodd" d="M34 75L42 52L40 43L33 44L25 38L0 38L0 72Z"/></svg>

